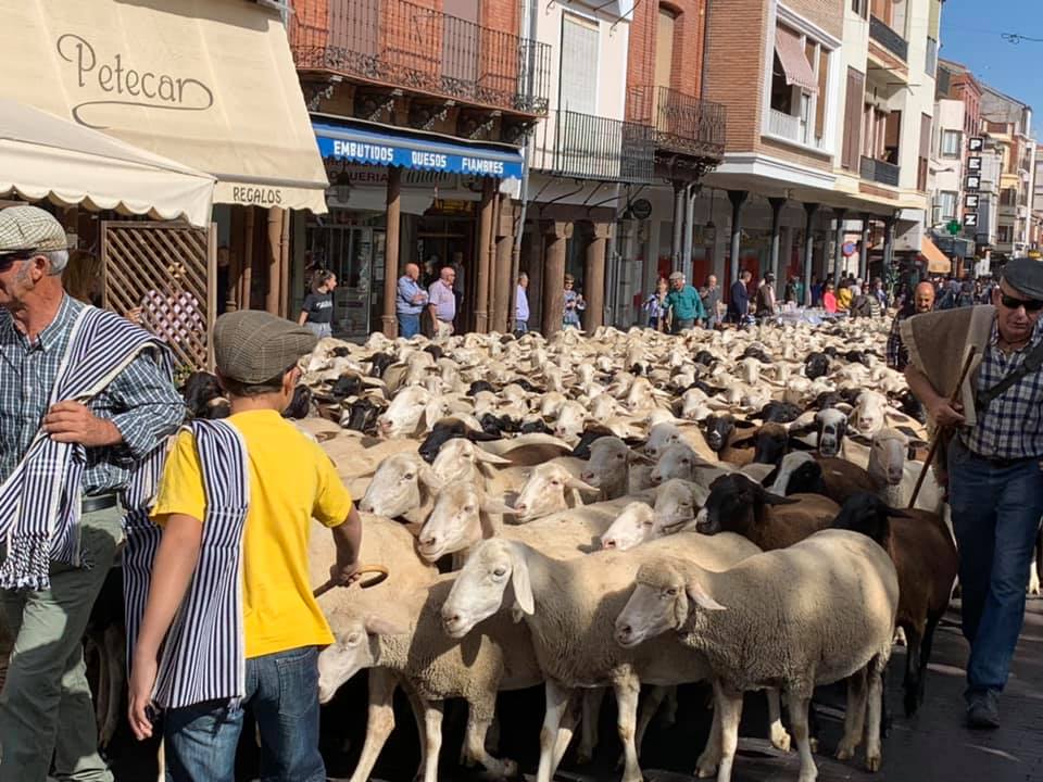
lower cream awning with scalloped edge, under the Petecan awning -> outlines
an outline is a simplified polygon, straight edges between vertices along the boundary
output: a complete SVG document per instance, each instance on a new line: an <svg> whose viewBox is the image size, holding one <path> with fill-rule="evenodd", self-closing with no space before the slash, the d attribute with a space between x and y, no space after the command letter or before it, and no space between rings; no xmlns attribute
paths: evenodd
<svg viewBox="0 0 1043 782"><path fill-rule="evenodd" d="M0 99L0 195L210 224L214 177Z"/></svg>

